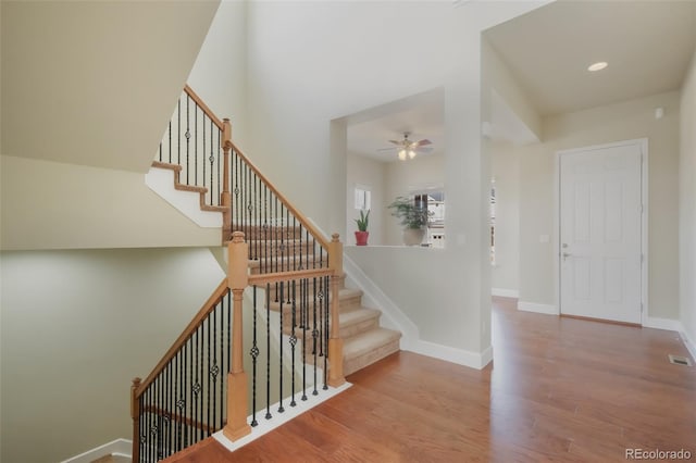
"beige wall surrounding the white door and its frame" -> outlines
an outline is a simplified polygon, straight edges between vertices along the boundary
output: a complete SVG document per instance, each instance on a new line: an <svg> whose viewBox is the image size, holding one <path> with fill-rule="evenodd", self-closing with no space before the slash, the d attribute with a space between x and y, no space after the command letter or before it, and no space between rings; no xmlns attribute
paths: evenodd
<svg viewBox="0 0 696 463"><path fill-rule="evenodd" d="M520 300L557 304L555 162L564 149L648 139L648 315L679 316L679 92L544 120L544 142L520 147ZM664 117L655 118L655 109ZM551 242L540 243L539 235Z"/></svg>

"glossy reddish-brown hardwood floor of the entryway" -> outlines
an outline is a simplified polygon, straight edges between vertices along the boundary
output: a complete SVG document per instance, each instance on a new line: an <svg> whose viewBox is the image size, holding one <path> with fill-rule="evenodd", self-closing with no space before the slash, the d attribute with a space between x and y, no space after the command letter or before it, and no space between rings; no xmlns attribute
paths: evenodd
<svg viewBox="0 0 696 463"><path fill-rule="evenodd" d="M167 461L619 462L625 449L696 461L696 368L667 358L688 356L678 334L519 312L506 298L494 298L493 329L483 371L398 352L234 453L209 439Z"/></svg>

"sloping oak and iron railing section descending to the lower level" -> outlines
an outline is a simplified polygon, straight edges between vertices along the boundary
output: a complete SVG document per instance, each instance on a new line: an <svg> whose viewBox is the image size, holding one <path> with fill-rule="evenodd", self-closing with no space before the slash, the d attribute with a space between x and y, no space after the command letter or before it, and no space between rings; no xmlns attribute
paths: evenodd
<svg viewBox="0 0 696 463"><path fill-rule="evenodd" d="M225 278L152 373L133 380L134 462L162 460L224 426L232 323Z"/></svg>

